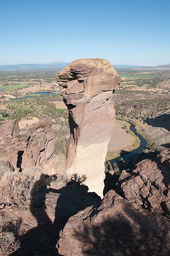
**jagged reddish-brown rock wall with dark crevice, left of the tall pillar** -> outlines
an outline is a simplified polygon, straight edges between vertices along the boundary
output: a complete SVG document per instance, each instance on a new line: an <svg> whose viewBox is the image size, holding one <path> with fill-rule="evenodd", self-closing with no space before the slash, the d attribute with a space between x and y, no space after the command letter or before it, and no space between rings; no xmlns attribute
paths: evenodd
<svg viewBox="0 0 170 256"><path fill-rule="evenodd" d="M0 158L15 170L47 163L54 151L52 121L48 117L19 129L16 119L0 126Z"/></svg>

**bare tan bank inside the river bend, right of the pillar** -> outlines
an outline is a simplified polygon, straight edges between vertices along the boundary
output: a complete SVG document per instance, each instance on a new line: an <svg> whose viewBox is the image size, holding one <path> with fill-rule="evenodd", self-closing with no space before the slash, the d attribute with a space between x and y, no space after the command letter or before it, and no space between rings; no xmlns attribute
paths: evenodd
<svg viewBox="0 0 170 256"><path fill-rule="evenodd" d="M130 148L135 143L135 137L132 137L130 134L126 133L125 129L122 129L124 125L128 128L130 127L129 123L126 121L115 121L111 139L108 143L106 159L110 159L111 156L120 156L122 150L130 151Z"/></svg>

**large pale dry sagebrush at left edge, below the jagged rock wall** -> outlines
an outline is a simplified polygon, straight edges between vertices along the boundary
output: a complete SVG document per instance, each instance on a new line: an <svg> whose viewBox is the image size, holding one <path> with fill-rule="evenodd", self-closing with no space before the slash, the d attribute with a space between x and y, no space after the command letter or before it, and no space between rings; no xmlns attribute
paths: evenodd
<svg viewBox="0 0 170 256"><path fill-rule="evenodd" d="M0 195L5 198L6 204L13 204L20 209L29 209L32 197L32 190L38 191L41 182L40 168L27 168L22 172L9 171L3 173L0 178ZM35 182L37 186L35 186Z"/></svg>

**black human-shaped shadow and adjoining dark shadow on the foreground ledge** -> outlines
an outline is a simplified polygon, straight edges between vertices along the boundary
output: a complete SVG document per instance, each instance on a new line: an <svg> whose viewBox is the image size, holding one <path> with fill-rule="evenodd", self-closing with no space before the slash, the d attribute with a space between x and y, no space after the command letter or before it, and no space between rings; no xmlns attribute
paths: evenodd
<svg viewBox="0 0 170 256"><path fill-rule="evenodd" d="M50 185L50 177L41 174L40 179L33 186L30 203L30 211L36 218L38 226L20 237L21 247L12 253L13 256L60 255L56 244L59 232L68 218L87 206L101 201L95 193L88 194L87 186L78 185L74 181L60 189L47 188L47 185ZM40 189L35 193L37 187ZM54 218L48 216L49 212L53 212L53 216L55 215L54 223Z"/></svg>

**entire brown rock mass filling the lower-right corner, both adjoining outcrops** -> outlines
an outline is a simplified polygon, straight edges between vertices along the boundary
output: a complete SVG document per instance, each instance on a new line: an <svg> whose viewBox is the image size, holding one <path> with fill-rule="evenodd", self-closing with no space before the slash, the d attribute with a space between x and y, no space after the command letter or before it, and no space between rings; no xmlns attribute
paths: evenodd
<svg viewBox="0 0 170 256"><path fill-rule="evenodd" d="M68 220L61 255L170 255L170 150L124 171L118 190Z"/></svg>

